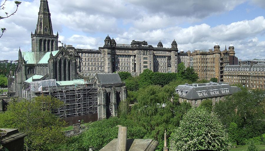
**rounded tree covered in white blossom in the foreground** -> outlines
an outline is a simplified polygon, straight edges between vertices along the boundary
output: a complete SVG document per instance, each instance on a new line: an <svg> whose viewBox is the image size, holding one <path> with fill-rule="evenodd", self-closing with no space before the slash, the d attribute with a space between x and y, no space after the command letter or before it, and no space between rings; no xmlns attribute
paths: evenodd
<svg viewBox="0 0 265 151"><path fill-rule="evenodd" d="M193 108L184 115L171 140L174 150L230 150L225 128L218 117L203 108Z"/></svg>

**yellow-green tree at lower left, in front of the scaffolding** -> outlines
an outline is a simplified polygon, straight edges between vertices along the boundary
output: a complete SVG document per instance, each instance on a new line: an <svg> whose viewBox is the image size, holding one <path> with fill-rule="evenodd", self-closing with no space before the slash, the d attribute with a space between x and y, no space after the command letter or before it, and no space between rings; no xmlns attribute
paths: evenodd
<svg viewBox="0 0 265 151"><path fill-rule="evenodd" d="M27 133L26 150L45 150L65 139L62 133L65 122L52 114L62 104L50 96L10 102L5 113L0 114L0 127Z"/></svg>

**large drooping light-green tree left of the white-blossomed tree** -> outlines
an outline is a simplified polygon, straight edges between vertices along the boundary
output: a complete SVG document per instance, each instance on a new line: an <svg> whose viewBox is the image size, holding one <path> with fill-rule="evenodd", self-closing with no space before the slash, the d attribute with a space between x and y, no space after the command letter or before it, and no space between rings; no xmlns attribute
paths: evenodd
<svg viewBox="0 0 265 151"><path fill-rule="evenodd" d="M168 135L178 127L183 114L191 108L189 103L179 103L174 87L149 85L138 90L137 102L129 118L147 130L146 137L158 140L158 150L163 149L164 131Z"/></svg>

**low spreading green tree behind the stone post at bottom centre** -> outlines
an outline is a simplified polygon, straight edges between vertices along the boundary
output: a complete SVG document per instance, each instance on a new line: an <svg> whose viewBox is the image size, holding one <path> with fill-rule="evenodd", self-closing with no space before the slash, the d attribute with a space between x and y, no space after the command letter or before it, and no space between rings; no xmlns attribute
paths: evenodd
<svg viewBox="0 0 265 151"><path fill-rule="evenodd" d="M117 125L128 127L128 139L142 139L146 135L146 130L136 125L134 121L111 117L91 123L82 134L67 139L66 143L61 143L51 150L87 151L90 147L93 147L93 150L98 151L118 137Z"/></svg>

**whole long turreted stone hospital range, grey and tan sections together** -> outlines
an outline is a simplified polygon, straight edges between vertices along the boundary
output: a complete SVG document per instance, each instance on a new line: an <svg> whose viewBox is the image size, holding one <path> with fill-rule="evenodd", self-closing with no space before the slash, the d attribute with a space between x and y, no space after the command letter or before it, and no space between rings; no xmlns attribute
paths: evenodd
<svg viewBox="0 0 265 151"><path fill-rule="evenodd" d="M131 44L116 44L115 40L107 36L105 45L99 50L77 49L82 58L80 74L93 77L95 73L113 73L127 71L132 76L138 76L144 69L153 72L177 72L178 63L183 62L186 67L193 67L199 79L217 78L223 81L223 69L226 65L236 65L234 46L220 51L218 43L214 50L195 50L178 52L174 40L171 48L163 48L161 41L157 47L148 45L146 41L132 41Z"/></svg>

